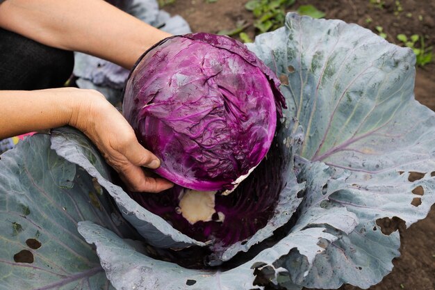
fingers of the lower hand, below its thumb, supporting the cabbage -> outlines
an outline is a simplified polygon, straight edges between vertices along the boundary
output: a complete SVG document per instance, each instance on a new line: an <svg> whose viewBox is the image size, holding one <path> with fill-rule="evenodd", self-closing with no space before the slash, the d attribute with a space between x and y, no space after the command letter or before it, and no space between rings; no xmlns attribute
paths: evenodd
<svg viewBox="0 0 435 290"><path fill-rule="evenodd" d="M122 181L130 191L134 192L147 192L147 193L159 193L174 186L172 182L159 178L148 177L142 168L138 166L126 166L120 172Z"/></svg>

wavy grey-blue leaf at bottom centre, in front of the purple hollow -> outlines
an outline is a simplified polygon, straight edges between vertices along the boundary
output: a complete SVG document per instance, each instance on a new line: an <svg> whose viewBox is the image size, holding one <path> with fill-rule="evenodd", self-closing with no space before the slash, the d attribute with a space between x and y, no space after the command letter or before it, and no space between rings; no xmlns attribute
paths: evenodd
<svg viewBox="0 0 435 290"><path fill-rule="evenodd" d="M322 228L304 229L286 236L273 248L263 250L251 261L229 271L199 271L190 270L167 261L151 259L138 252L126 241L113 232L90 222L79 224L79 232L88 243L95 243L97 254L106 275L116 289L140 290L249 290L254 287L254 269L271 268L271 280L276 280L275 274L284 272L281 263L276 268L274 264L280 257L286 257L289 252L297 249L298 257L306 267L313 261L315 255L322 252L320 241L334 241L335 236L323 232ZM278 264L277 264L278 265ZM299 267L299 264L297 264ZM301 267L300 271L307 268ZM276 273L275 273L276 271ZM188 280L195 284L188 286ZM294 289L302 289L297 287Z"/></svg>

